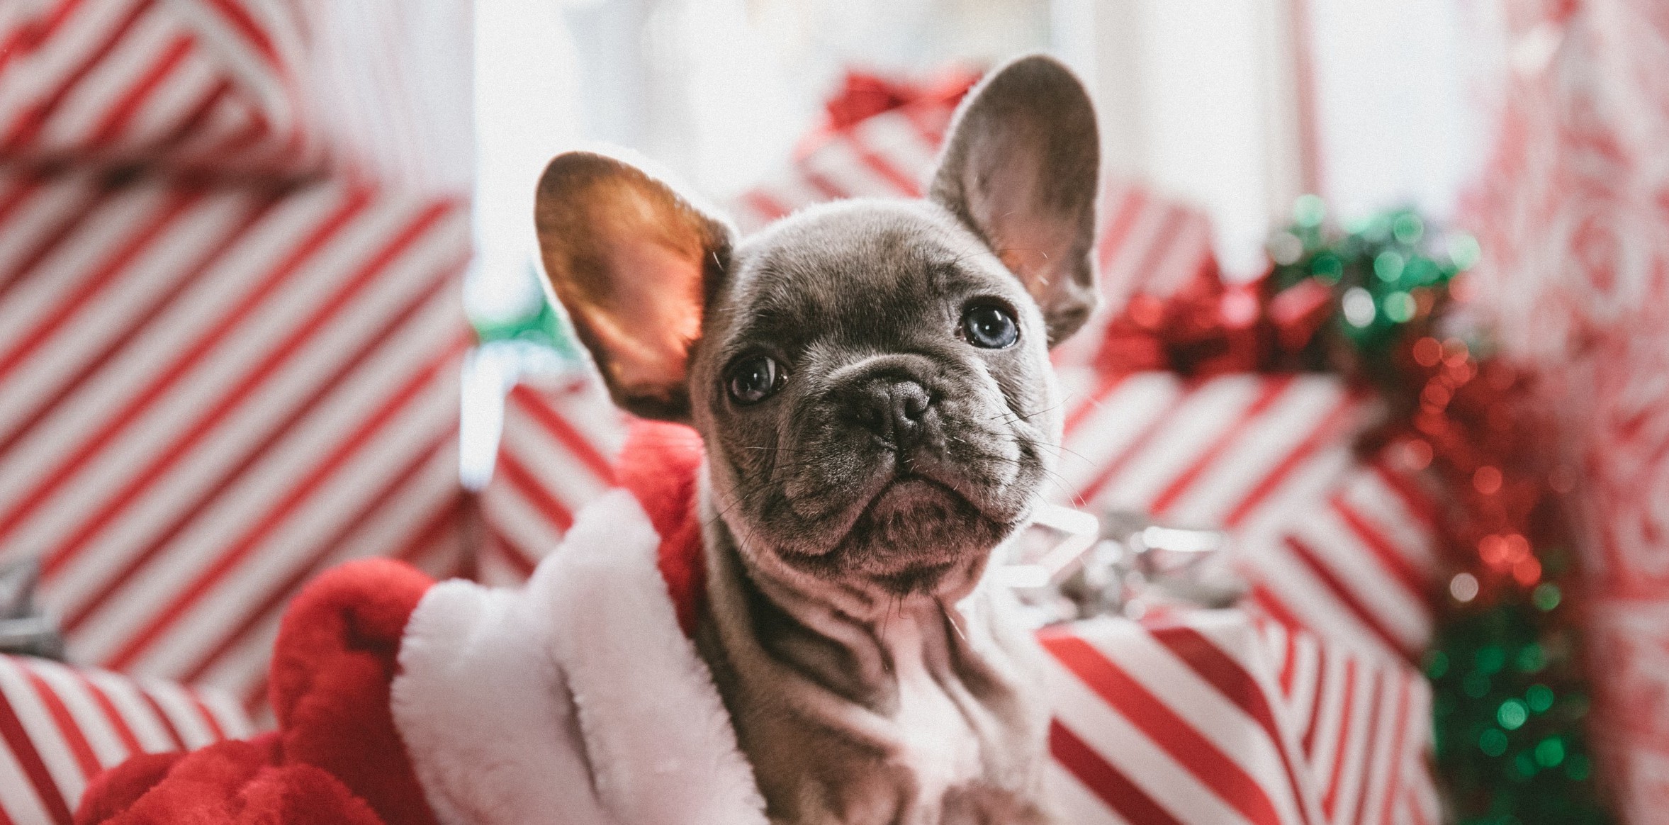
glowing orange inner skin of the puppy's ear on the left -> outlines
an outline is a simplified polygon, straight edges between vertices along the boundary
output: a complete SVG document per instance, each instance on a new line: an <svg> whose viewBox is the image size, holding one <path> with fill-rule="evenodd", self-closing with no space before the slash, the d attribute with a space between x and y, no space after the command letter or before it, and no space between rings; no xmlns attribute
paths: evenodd
<svg viewBox="0 0 1669 825"><path fill-rule="evenodd" d="M633 394L663 394L684 381L689 346L701 337L701 244L679 244L666 232L656 240L611 244L604 254L614 272L608 309L591 332L609 352L614 384ZM653 235L651 235L653 237Z"/></svg>

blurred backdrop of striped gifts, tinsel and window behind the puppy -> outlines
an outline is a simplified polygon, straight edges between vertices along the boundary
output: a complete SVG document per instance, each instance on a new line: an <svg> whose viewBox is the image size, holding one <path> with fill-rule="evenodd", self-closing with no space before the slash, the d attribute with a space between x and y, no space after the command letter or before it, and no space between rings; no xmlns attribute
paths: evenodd
<svg viewBox="0 0 1669 825"><path fill-rule="evenodd" d="M272 726L320 571L512 585L616 484L554 154L920 195L1036 50L1105 170L1071 822L1669 823L1661 0L0 0L0 822Z"/></svg>

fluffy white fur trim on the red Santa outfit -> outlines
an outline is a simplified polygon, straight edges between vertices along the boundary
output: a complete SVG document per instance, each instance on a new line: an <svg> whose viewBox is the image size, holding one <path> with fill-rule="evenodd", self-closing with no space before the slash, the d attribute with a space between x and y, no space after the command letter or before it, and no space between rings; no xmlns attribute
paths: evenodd
<svg viewBox="0 0 1669 825"><path fill-rule="evenodd" d="M417 605L392 708L444 823L766 823L658 546L616 491L524 588L446 581Z"/></svg>

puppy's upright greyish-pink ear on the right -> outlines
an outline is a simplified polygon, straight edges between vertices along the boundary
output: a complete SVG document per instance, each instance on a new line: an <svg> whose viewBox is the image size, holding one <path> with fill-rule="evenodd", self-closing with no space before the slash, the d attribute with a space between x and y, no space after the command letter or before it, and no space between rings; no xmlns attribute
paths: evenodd
<svg viewBox="0 0 1669 825"><path fill-rule="evenodd" d="M1043 307L1048 342L1095 309L1100 137L1083 84L1058 60L1016 58L968 92L930 197L980 234Z"/></svg>

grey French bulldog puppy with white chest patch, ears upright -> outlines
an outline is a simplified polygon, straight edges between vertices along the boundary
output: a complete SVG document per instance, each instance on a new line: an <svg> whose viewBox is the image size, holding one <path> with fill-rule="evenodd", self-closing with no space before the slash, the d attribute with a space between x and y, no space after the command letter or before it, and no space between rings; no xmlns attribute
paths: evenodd
<svg viewBox="0 0 1669 825"><path fill-rule="evenodd" d="M706 441L696 646L773 822L1051 822L1040 651L980 580L1056 458L1097 167L1083 87L1023 57L921 200L738 239L614 157L539 182L549 286L614 401Z"/></svg>

